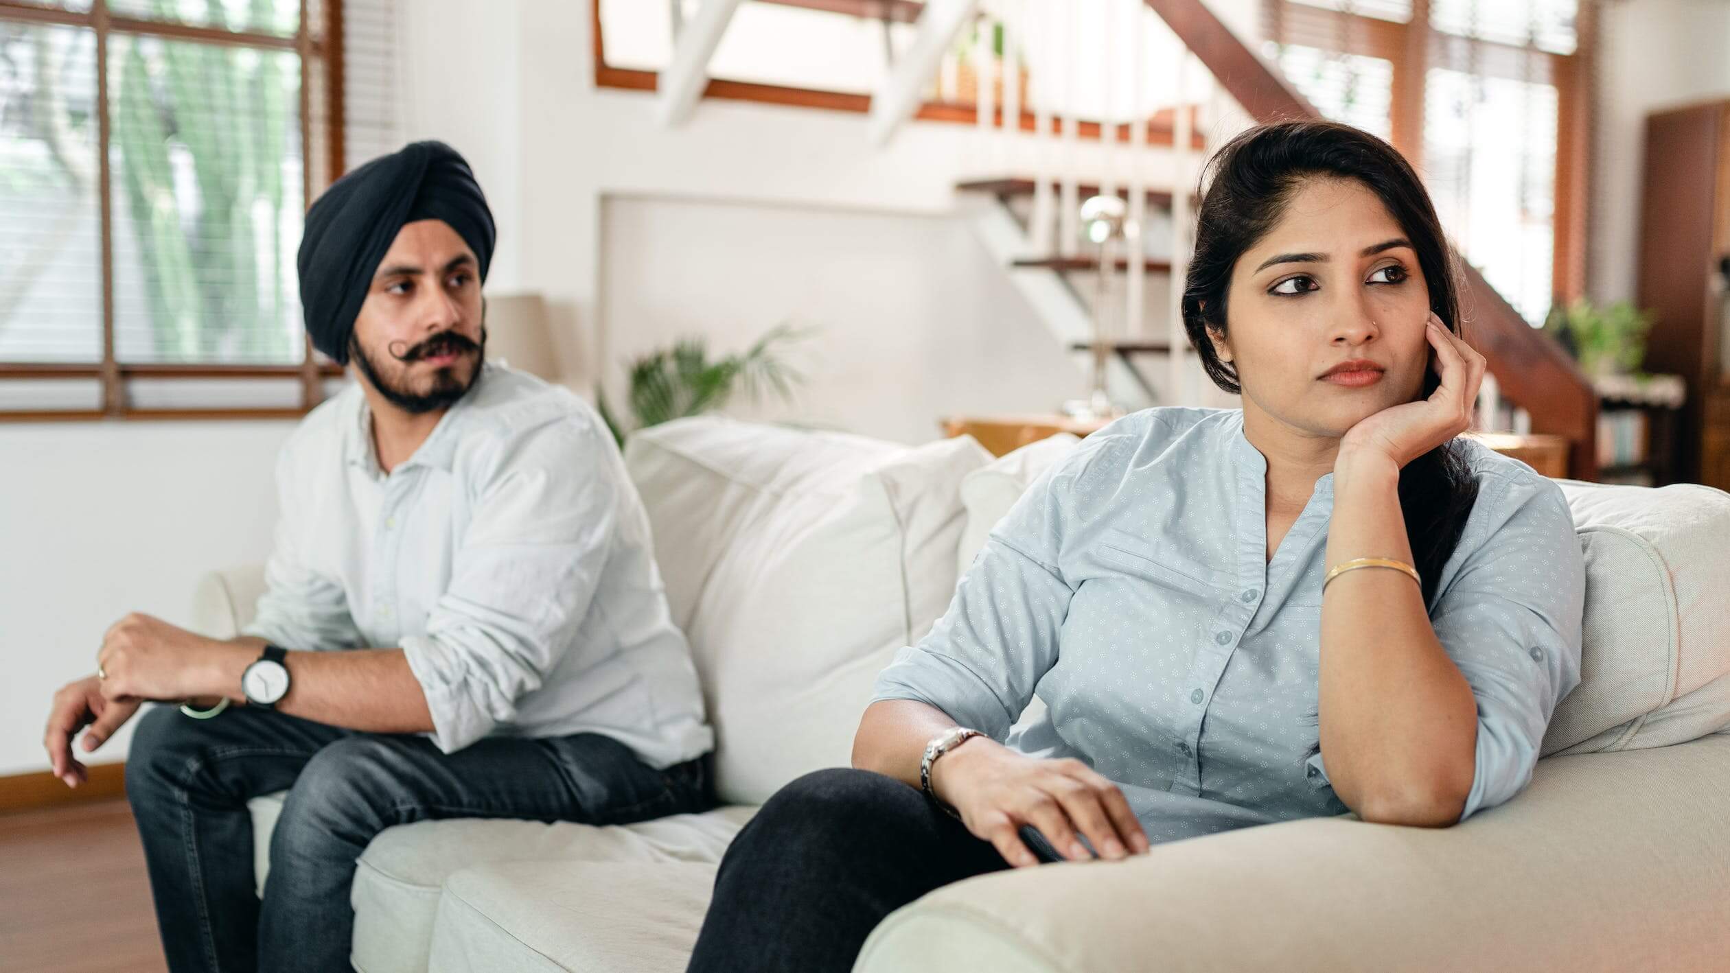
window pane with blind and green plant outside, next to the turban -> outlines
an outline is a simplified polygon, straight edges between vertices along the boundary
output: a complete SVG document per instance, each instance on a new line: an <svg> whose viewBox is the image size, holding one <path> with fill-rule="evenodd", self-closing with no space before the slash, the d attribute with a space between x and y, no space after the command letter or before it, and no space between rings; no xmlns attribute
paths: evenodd
<svg viewBox="0 0 1730 973"><path fill-rule="evenodd" d="M116 358L301 361L299 55L114 33L107 90Z"/></svg>

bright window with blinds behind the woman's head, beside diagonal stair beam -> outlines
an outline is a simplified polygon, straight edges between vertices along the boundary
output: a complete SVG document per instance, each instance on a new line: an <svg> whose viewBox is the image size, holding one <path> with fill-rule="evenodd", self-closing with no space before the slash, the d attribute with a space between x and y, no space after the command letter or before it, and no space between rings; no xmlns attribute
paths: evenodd
<svg viewBox="0 0 1730 973"><path fill-rule="evenodd" d="M1535 327L1579 294L1592 0L1266 0L1263 54L1322 114L1391 140L1462 256ZM1576 261L1576 263L1571 263Z"/></svg>

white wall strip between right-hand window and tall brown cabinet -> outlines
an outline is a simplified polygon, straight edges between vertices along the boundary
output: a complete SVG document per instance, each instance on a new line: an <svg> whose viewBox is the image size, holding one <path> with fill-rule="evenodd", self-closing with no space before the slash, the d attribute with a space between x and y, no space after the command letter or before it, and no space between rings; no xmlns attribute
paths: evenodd
<svg viewBox="0 0 1730 973"><path fill-rule="evenodd" d="M1730 99L1730 2L1605 7L1586 280L1595 301L1635 296L1647 112L1714 99Z"/></svg>

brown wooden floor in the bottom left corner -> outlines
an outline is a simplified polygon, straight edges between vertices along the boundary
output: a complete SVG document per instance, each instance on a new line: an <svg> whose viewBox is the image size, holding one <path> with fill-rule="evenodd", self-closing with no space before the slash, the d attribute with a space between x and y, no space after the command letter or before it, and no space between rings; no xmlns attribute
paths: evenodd
<svg viewBox="0 0 1730 973"><path fill-rule="evenodd" d="M0 971L166 971L125 800L0 814Z"/></svg>

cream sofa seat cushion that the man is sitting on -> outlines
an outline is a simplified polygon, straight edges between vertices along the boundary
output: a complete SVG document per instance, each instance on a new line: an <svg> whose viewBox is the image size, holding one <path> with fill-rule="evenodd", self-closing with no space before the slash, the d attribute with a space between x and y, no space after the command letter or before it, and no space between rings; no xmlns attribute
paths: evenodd
<svg viewBox="0 0 1730 973"><path fill-rule="evenodd" d="M249 809L258 888L263 894L270 869L270 830L282 809L282 795L253 798ZM386 828L360 855L349 892L355 906L355 968L363 973L426 970L443 887L462 869L510 862L541 862L541 868L555 871L573 862L609 862L609 868L699 864L713 876L727 845L753 814L754 807L730 805L602 828L476 817Z"/></svg>

